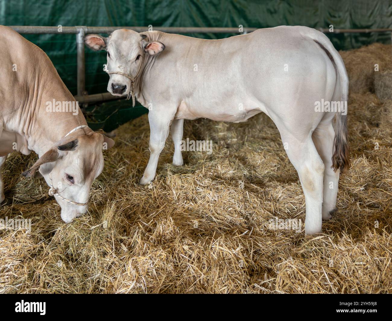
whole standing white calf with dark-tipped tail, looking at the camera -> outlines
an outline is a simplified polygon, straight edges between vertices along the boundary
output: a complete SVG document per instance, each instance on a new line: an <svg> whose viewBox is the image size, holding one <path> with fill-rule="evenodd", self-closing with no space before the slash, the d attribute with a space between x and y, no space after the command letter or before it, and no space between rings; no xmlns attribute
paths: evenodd
<svg viewBox="0 0 392 321"><path fill-rule="evenodd" d="M298 172L306 201L305 232L321 232L322 219L330 219L336 207L339 170L349 165L348 77L324 34L281 26L204 40L121 29L109 38L90 34L85 43L107 50L107 90L132 99L136 94L150 110L151 156L141 184L154 179L170 127L173 163L182 165L184 119L244 122L265 112ZM324 109L331 102L335 107L333 102L343 102L342 112Z"/></svg>

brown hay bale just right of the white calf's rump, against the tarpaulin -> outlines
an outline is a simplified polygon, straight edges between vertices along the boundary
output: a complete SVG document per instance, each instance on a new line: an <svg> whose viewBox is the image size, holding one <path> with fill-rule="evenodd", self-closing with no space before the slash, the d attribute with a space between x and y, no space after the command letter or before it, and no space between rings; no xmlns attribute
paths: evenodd
<svg viewBox="0 0 392 321"><path fill-rule="evenodd" d="M379 72L392 71L391 45L375 43L339 53L350 79L349 92L374 92L374 76ZM375 71L377 68L378 71Z"/></svg>

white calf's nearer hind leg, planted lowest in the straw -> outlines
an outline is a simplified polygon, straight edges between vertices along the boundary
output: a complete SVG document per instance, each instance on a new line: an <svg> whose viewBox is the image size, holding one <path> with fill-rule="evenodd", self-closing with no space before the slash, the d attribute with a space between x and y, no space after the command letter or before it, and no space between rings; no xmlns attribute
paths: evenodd
<svg viewBox="0 0 392 321"><path fill-rule="evenodd" d="M305 234L321 233L323 204L324 164L309 134L298 140L292 134L282 135L283 144L287 143L287 156L298 172L305 194L306 216Z"/></svg>

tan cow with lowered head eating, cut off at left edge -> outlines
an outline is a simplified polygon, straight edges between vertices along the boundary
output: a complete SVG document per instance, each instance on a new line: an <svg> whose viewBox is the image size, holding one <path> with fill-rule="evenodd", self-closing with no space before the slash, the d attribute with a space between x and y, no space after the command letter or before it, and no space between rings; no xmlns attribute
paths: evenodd
<svg viewBox="0 0 392 321"><path fill-rule="evenodd" d="M48 56L9 27L0 26L0 167L14 151L38 161L23 175L44 176L70 222L87 211L91 184L102 172L102 149L114 141L86 120ZM0 203L4 201L0 176Z"/></svg>

